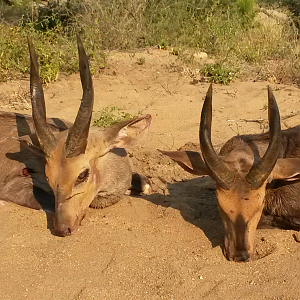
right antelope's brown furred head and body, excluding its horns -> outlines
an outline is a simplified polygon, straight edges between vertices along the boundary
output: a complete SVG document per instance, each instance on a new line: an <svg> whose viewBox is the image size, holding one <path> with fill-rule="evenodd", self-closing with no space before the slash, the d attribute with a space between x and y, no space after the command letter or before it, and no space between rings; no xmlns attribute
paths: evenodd
<svg viewBox="0 0 300 300"><path fill-rule="evenodd" d="M211 97L211 87L208 95ZM162 151L186 171L210 175L216 180L218 207L225 229L224 254L229 260L253 258L260 219L262 226L300 230L300 126L282 131L281 137L276 164L258 188L251 185L247 176L266 153L269 133L236 136L224 144L218 159L233 178L229 184L218 181L197 152Z"/></svg>

